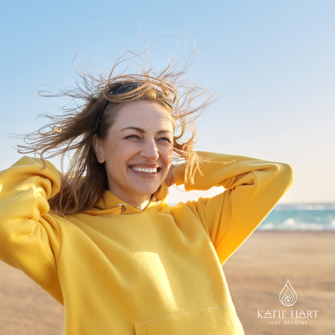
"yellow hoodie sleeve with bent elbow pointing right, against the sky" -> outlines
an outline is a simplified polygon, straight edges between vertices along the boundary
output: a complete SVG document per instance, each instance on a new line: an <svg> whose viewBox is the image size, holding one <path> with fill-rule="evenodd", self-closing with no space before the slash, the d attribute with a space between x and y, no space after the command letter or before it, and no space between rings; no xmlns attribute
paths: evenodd
<svg viewBox="0 0 335 335"><path fill-rule="evenodd" d="M196 172L194 185L186 191L223 186L214 197L201 197L186 204L204 226L223 264L262 222L293 182L288 164L255 158L198 152L208 162ZM176 185L184 184L185 165L175 173Z"/></svg>

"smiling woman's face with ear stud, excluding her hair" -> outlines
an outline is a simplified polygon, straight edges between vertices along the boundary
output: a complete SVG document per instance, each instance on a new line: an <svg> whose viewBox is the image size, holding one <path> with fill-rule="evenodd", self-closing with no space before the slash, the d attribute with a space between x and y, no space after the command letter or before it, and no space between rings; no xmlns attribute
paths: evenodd
<svg viewBox="0 0 335 335"><path fill-rule="evenodd" d="M125 200L150 196L165 180L171 165L171 113L146 100L124 103L107 138L95 140L94 148L98 161L105 163L113 194Z"/></svg>

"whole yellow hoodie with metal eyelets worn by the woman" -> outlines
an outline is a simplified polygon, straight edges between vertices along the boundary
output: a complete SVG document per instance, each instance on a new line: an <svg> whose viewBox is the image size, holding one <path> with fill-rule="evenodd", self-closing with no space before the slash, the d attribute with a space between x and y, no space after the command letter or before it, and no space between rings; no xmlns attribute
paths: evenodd
<svg viewBox="0 0 335 335"><path fill-rule="evenodd" d="M287 164L217 153L186 190L214 197L169 207L163 184L144 211L111 192L62 218L47 199L61 174L22 157L0 174L0 258L65 306L68 335L243 334L221 264L290 187ZM235 160L234 162L231 162ZM227 164L219 162L230 162ZM175 181L184 183L184 166Z"/></svg>

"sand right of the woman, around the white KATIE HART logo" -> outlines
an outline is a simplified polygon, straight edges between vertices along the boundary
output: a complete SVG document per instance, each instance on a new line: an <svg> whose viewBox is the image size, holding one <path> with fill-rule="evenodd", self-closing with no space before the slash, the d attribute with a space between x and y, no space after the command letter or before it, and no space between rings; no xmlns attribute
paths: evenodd
<svg viewBox="0 0 335 335"><path fill-rule="evenodd" d="M256 231L223 271L246 335L335 334L334 232ZM293 306L279 301L287 279L297 295ZM275 319L264 318L271 310L286 310L286 319L277 318L278 313ZM298 318L291 318L292 310ZM299 318L302 311L313 310L319 311L316 319ZM257 311L263 311L263 319Z"/></svg>

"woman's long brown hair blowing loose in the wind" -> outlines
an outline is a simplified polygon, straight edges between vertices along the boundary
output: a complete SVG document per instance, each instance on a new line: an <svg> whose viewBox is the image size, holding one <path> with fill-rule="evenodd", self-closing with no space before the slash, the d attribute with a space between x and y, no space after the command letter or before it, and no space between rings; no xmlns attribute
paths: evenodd
<svg viewBox="0 0 335 335"><path fill-rule="evenodd" d="M25 145L18 146L20 153L38 154L43 163L44 159L59 155L62 170L64 158L71 157L60 192L49 200L51 210L59 215L81 213L94 207L102 198L108 180L105 165L96 159L92 137L96 134L104 140L120 106L131 100L153 101L171 112L175 120L174 159L185 159L185 181L193 183L194 174L199 169L199 157L194 151L194 121L210 103L210 93L184 79L191 57L180 71L176 70L178 64L172 66L173 62L170 62L159 72L150 66L147 69L137 67L137 73L129 73L126 69L116 74L116 68L129 59L119 59L107 77L97 71L92 75L87 70L74 68L79 75L74 89L52 95L40 92L43 96L67 96L76 104L63 108L60 115L49 116L51 123L40 128L38 135L36 132L26 135ZM126 84L138 86L123 94L110 94ZM168 99L173 107L164 99Z"/></svg>

